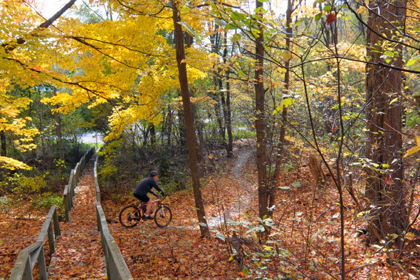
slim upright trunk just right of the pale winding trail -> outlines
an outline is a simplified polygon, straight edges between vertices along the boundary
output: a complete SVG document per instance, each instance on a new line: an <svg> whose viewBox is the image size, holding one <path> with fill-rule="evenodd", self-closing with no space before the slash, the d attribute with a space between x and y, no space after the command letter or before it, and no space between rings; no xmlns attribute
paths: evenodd
<svg viewBox="0 0 420 280"><path fill-rule="evenodd" d="M256 9L262 9L263 3L256 1ZM259 17L263 16L262 12L258 13ZM266 174L267 155L266 155L266 90L264 90L264 33L263 26L258 23L258 37L256 38L256 66L255 66L255 90L256 90L256 109L254 113L256 136L257 136L257 152L256 163L258 172L258 216L261 219L268 217L268 180ZM266 242L268 238L268 230L260 235L261 241Z"/></svg>

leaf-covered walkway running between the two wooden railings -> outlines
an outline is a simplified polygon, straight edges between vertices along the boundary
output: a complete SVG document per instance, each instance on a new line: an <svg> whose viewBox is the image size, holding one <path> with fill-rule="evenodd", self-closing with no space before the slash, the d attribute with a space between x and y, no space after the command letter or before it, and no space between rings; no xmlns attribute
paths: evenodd
<svg viewBox="0 0 420 280"><path fill-rule="evenodd" d="M94 157L93 157L94 158ZM61 224L48 279L106 279L103 249L96 225L93 159L75 189L70 222Z"/></svg>

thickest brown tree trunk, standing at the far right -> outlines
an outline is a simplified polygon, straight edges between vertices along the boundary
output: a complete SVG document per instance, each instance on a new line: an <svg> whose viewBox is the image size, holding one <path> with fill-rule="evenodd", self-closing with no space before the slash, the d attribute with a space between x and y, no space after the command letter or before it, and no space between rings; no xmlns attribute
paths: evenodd
<svg viewBox="0 0 420 280"><path fill-rule="evenodd" d="M369 7L367 56L372 64L367 65L366 153L373 165L367 170L366 196L372 205L369 241L377 243L394 234L401 237L408 224L401 158L401 71L392 68L402 66L402 50L400 44L386 42L387 38L398 41L404 32L406 1L371 0ZM386 61L383 51L390 47L394 57Z"/></svg>

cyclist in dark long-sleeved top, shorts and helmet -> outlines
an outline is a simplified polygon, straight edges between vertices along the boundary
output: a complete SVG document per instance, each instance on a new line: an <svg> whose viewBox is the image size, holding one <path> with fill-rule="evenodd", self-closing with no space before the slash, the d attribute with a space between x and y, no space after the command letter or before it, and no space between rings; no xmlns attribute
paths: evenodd
<svg viewBox="0 0 420 280"><path fill-rule="evenodd" d="M159 173L157 171L150 171L149 177L142 180L142 182L138 183L135 187L135 190L133 192L133 195L140 199L141 202L147 202L146 204L146 213L145 213L145 219L153 219L150 217L150 208L152 208L152 200L149 199L147 194L150 192L155 197L159 197L159 195L162 195L162 197L165 197L165 193L163 190L157 185L157 179L159 178ZM156 195L154 192L152 192L152 188L154 187L155 190L157 190L159 195Z"/></svg>

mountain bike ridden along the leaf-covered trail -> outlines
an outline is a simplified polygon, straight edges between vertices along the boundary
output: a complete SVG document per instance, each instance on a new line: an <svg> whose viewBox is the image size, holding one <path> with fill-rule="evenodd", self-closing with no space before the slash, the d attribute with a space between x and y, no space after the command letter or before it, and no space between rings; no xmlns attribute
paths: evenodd
<svg viewBox="0 0 420 280"><path fill-rule="evenodd" d="M127 205L122 208L120 212L120 224L122 227L135 227L140 220L145 219L146 203L141 203L139 206L135 204ZM150 216L153 217L154 222L158 227L167 227L172 221L172 211L167 204L163 204L160 199L152 200L152 208L150 209Z"/></svg>

